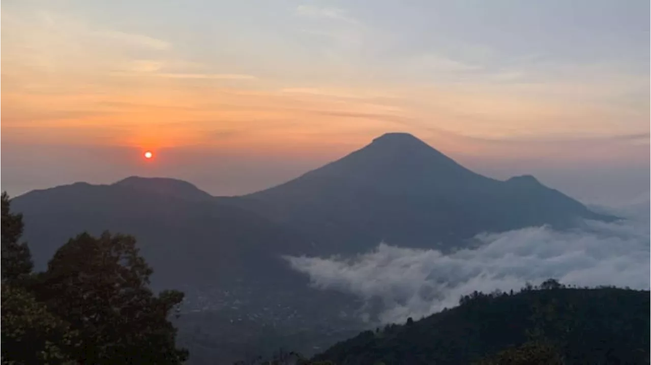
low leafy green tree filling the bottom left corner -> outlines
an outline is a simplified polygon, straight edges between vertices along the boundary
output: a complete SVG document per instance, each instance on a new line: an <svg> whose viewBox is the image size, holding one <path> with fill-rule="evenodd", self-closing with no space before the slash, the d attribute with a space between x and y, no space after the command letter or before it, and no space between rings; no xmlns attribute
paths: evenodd
<svg viewBox="0 0 651 365"><path fill-rule="evenodd" d="M0 284L0 323L0 364L76 364L76 333L24 289Z"/></svg>

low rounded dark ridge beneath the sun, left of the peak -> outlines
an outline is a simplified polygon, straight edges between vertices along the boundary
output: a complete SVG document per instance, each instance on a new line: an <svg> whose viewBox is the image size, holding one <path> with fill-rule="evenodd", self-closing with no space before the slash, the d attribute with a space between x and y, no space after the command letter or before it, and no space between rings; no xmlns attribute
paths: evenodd
<svg viewBox="0 0 651 365"><path fill-rule="evenodd" d="M111 185L76 183L17 197L37 268L83 231L133 234L155 270L154 283L214 285L252 267L279 269L279 253L302 240L253 212L224 205L173 179L131 177ZM250 265L250 266L249 266Z"/></svg>

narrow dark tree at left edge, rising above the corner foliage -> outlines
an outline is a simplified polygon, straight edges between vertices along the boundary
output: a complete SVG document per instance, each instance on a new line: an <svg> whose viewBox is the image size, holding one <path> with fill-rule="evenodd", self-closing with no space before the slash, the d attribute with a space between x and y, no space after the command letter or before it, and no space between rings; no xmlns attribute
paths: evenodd
<svg viewBox="0 0 651 365"><path fill-rule="evenodd" d="M9 195L0 193L0 283L21 279L33 268L29 247L19 242L23 216L12 214L10 203Z"/></svg>

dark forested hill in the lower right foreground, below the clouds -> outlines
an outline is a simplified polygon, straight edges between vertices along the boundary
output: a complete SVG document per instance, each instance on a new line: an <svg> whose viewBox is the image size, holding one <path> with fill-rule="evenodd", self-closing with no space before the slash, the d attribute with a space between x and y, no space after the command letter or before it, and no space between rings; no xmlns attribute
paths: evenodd
<svg viewBox="0 0 651 365"><path fill-rule="evenodd" d="M514 361L541 353L544 359ZM367 331L315 360L337 365L594 365L650 364L650 355L651 292L565 288L547 281L515 294L463 297L459 307Z"/></svg>

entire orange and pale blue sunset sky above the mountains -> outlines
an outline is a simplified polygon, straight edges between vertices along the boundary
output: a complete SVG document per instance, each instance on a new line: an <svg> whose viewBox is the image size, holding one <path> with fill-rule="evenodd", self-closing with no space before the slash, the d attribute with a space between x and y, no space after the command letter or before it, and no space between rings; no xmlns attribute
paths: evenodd
<svg viewBox="0 0 651 365"><path fill-rule="evenodd" d="M651 190L649 14L647 0L1 0L0 190L141 175L243 194L403 131L491 177L635 201Z"/></svg>

